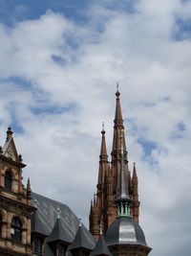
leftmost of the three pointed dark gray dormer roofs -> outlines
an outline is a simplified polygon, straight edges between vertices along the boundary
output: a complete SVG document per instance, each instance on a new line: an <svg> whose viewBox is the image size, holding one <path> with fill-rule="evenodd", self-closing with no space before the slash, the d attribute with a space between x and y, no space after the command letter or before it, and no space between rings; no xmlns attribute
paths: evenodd
<svg viewBox="0 0 191 256"><path fill-rule="evenodd" d="M57 219L55 221L53 231L51 235L47 238L47 243L53 243L55 241L61 241L66 244L71 244L73 242L73 238L68 233L60 219Z"/></svg>

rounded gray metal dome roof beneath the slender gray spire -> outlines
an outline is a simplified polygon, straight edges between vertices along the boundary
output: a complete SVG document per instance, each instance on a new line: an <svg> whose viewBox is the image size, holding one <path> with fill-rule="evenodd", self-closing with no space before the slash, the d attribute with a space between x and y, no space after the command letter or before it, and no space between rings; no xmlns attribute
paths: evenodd
<svg viewBox="0 0 191 256"><path fill-rule="evenodd" d="M147 246L141 227L132 218L118 217L108 228L106 244L140 244Z"/></svg>

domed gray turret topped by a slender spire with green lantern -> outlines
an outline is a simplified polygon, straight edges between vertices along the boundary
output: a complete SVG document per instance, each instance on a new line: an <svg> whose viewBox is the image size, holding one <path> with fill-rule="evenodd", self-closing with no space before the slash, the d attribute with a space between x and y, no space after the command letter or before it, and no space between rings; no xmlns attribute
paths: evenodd
<svg viewBox="0 0 191 256"><path fill-rule="evenodd" d="M125 178L124 153L121 134L120 178L117 192L117 218L109 226L106 243L114 256L147 256L151 248L146 244L144 233L138 222L131 217L128 182Z"/></svg>

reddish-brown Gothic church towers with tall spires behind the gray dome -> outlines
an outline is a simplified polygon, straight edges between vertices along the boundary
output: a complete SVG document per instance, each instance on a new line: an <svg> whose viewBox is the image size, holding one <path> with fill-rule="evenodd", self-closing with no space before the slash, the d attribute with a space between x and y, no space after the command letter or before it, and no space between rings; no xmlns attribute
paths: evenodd
<svg viewBox="0 0 191 256"><path fill-rule="evenodd" d="M138 175L136 164L133 167L133 175L129 168L128 152L126 150L126 142L124 135L124 125L122 119L122 111L120 106L120 93L116 93L116 111L114 119L114 135L113 147L111 152L111 162L108 161L106 147L106 131L102 128L101 131L101 150L99 155L98 180L96 185L96 197L94 203L91 204L90 211L90 231L96 238L99 236L99 227L102 222L103 233L106 233L109 225L115 221L117 217L117 192L119 189L119 176L121 168L121 153L120 153L120 136L122 133L122 147L124 155L124 175L128 183L128 194L133 198L133 203L130 206L130 211L134 221L138 222L139 216L139 201L138 201Z"/></svg>

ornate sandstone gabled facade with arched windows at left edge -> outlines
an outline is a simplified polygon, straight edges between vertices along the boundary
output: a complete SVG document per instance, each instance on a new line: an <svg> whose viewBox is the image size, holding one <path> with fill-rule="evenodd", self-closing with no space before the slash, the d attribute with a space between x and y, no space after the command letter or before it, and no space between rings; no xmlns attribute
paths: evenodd
<svg viewBox="0 0 191 256"><path fill-rule="evenodd" d="M32 255L31 184L22 184L26 166L18 155L12 130L8 128L4 147L0 147L0 255Z"/></svg>

